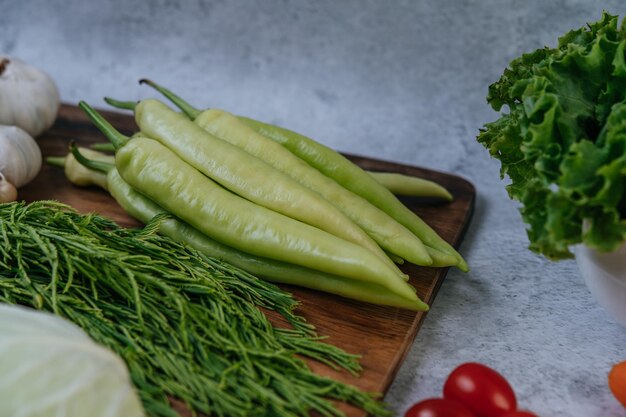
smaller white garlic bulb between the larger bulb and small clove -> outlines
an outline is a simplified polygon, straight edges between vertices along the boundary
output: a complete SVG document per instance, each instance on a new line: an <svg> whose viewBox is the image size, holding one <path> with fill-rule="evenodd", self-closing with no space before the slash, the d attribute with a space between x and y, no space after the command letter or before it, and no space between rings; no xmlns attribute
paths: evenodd
<svg viewBox="0 0 626 417"><path fill-rule="evenodd" d="M37 142L17 126L0 125L0 173L16 188L30 182L41 169Z"/></svg>

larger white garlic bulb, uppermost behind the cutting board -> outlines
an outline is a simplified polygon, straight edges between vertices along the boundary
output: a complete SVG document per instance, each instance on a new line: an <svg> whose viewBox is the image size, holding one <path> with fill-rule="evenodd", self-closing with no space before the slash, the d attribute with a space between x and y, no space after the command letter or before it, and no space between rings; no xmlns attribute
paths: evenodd
<svg viewBox="0 0 626 417"><path fill-rule="evenodd" d="M54 123L59 90L46 73L0 55L0 124L19 126L32 137Z"/></svg>

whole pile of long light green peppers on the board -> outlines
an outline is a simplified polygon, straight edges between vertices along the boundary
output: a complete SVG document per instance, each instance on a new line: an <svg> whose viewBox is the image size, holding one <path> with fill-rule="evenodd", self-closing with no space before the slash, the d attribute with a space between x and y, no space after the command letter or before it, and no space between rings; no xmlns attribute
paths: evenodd
<svg viewBox="0 0 626 417"><path fill-rule="evenodd" d="M134 111L139 132L127 137L81 102L115 155L72 146L48 162L64 165L75 184L107 189L140 222L160 215L162 234L274 282L419 311L428 305L396 262L467 270L390 191L420 182L418 193L450 199L442 187L366 172L298 133L200 111L143 82L183 111L156 99L109 99Z"/></svg>

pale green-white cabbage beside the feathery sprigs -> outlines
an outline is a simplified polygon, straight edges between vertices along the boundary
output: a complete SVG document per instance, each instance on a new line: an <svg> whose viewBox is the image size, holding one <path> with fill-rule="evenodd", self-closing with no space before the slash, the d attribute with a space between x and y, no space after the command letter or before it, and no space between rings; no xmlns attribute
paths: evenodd
<svg viewBox="0 0 626 417"><path fill-rule="evenodd" d="M144 416L126 364L79 327L0 304L0 416Z"/></svg>

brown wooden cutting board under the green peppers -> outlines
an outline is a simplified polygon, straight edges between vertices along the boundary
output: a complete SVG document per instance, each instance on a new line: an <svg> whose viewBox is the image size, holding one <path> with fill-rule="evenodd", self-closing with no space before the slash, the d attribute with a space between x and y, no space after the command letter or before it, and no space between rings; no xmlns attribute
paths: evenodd
<svg viewBox="0 0 626 417"><path fill-rule="evenodd" d="M136 130L135 123L128 114L103 114L124 133L131 134ZM79 146L84 146L104 142L105 138L80 109L63 105L55 125L38 139L38 143L44 157L60 156L67 154L68 144L72 140ZM353 155L348 157L365 169L414 175L446 187L454 196L452 203L442 204L411 198L403 201L444 239L458 247L473 212L475 190L472 184L441 172ZM44 165L37 178L20 189L20 198L26 201L58 200L80 212L96 212L124 226L139 225L105 191L95 187L76 187L67 181L61 169L55 167ZM418 295L432 305L448 268L404 265L402 269L411 277L410 283L417 288ZM311 367L319 374L356 385L363 390L385 393L415 340L426 314L360 303L303 288L283 288L292 292L301 302L299 313L317 327L320 335L328 336L328 343L362 356L363 372L359 377L352 377L319 363L311 362ZM365 415L363 411L345 404L341 404L340 408L350 417Z"/></svg>

